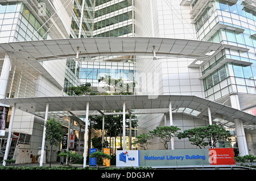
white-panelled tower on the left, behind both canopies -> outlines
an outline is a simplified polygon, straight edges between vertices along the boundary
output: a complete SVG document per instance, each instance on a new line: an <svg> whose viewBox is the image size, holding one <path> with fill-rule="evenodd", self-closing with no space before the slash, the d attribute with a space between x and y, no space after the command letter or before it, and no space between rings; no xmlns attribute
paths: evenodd
<svg viewBox="0 0 256 181"><path fill-rule="evenodd" d="M28 44L31 44L32 41L37 40L67 39L71 33L72 9L72 1L1 1L0 42L28 41ZM38 41L37 45L40 45ZM5 50L5 46L1 49ZM27 51L33 52L32 49L27 49ZM43 51L41 53L46 54ZM31 62L27 57L16 60L11 58L12 55L11 52L7 52L1 57L0 87L7 86L6 90L1 89L1 98L5 96L7 98L62 96L64 94L67 60ZM9 69L10 74L8 72L5 74ZM8 158L14 158L17 163L23 163L31 162L31 155L38 155L40 142L42 142L43 121L41 117L21 111L17 107L13 131L19 138L12 140ZM63 123L68 122L63 121ZM1 138L2 153L5 150L6 144L3 143L6 138ZM19 147L15 149L17 143ZM0 156L1 161L3 155Z"/></svg>

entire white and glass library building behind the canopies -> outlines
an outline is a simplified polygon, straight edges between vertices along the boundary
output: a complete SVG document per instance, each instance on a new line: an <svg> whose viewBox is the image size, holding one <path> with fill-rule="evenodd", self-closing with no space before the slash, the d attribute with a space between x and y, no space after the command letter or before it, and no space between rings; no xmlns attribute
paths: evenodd
<svg viewBox="0 0 256 181"><path fill-rule="evenodd" d="M137 95L197 96L253 113L256 107L255 9L255 2L251 0L0 2L0 43L27 41L26 51L31 54L43 44L55 56L61 55L59 60L33 62L30 57L15 60L11 58L12 52L1 54L0 87L7 89L0 88L0 99L5 96L68 96L71 95L69 87L85 82L97 90L101 86L98 75L108 74L114 78L122 77L127 82L137 81L134 93ZM100 37L165 38L170 44L175 43L172 52L182 57L156 57L154 48L159 47L152 47L152 56L134 56L131 51L131 55L63 58L65 53L56 53L56 50L68 47L67 41L57 45L34 41ZM130 41L133 45L136 39ZM196 47L209 42L220 43L221 48L209 51L205 58L189 56L193 54L189 49L191 45ZM204 52L205 49L201 48ZM0 49L5 50L5 47ZM79 54L82 50L77 47L76 51ZM40 54L48 56L44 49ZM9 69L10 74L7 74ZM170 125L171 119L181 130L210 124L209 117L199 111L177 105L172 105L172 108L172 118L163 112L138 115L137 134ZM15 158L16 163L31 162L27 155L23 157L23 151L38 155L38 148L42 146L44 112L34 112L21 111L19 107L15 112L13 130L20 138L13 139L9 156ZM50 112L49 115L55 116L65 127L71 122L68 117L73 116L67 111ZM237 154L256 154L255 123L243 124L239 119L227 121L221 111L212 112L212 117L213 124L221 124L232 132L231 145ZM79 128L74 127L78 135ZM6 138L1 141L5 142ZM16 148L18 142L19 148ZM174 149L196 148L186 140L175 138L174 142ZM1 150L6 149L5 144L0 145ZM222 141L218 146L225 148L228 145L230 142ZM149 149L163 149L163 146L155 139ZM58 150L54 149L55 152ZM0 161L2 159L0 154Z"/></svg>

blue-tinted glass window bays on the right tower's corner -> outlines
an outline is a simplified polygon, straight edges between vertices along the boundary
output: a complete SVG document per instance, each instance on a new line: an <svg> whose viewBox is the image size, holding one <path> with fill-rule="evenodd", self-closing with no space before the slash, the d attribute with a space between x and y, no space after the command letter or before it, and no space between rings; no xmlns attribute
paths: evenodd
<svg viewBox="0 0 256 181"><path fill-rule="evenodd" d="M199 37L244 48L224 48L201 66L202 74L207 75L203 79L206 98L216 100L232 92L256 94L255 15L242 1L214 0L196 19Z"/></svg>

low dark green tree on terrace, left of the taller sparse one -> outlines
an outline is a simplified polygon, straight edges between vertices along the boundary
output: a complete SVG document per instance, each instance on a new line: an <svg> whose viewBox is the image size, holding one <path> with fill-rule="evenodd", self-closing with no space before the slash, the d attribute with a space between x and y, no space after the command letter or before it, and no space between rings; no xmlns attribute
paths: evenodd
<svg viewBox="0 0 256 181"><path fill-rule="evenodd" d="M98 92L93 92L90 89L90 83L82 83L80 86L77 87L70 87L71 94L75 95L99 95Z"/></svg>

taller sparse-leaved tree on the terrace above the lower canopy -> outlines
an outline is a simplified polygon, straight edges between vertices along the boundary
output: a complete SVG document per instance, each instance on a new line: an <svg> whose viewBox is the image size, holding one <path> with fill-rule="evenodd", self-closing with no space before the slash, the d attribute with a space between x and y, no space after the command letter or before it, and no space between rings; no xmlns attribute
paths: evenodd
<svg viewBox="0 0 256 181"><path fill-rule="evenodd" d="M105 77L99 77L98 82L105 82L106 85L103 87L105 94L107 92L112 92L114 95L132 95L137 85L136 81L125 83L121 78L114 79L110 75L105 75Z"/></svg>

